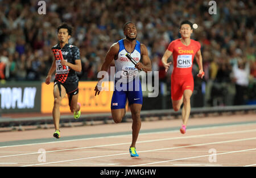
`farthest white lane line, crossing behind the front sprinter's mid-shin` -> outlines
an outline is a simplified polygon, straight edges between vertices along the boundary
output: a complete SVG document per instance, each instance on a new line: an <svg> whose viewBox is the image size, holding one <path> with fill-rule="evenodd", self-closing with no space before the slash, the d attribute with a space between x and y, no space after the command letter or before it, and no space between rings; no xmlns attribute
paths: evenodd
<svg viewBox="0 0 256 178"><path fill-rule="evenodd" d="M222 128L222 127L237 127L237 126L246 126L246 125L252 125L254 123L241 123L237 125L225 125L225 126L209 126L209 127L203 127L203 128L195 128L195 129L189 129L189 131L196 131L196 130L207 130L207 129L216 129L216 128ZM188 129L187 129L188 130ZM147 135L147 134L163 134L163 133L176 133L176 130L172 131L152 131L149 133L140 133L140 135ZM82 140L91 140L91 139L104 139L104 138L118 138L122 136L130 136L131 134L123 134L123 135L113 135L113 136L100 136L100 137L92 137L92 138L81 138L81 139L72 139L72 140L63 140L63 141L53 141L53 142L41 142L41 143L28 143L28 144L17 144L17 145L11 145L11 146L0 146L1 148L7 148L7 147L19 147L19 146L32 146L32 145L38 145L38 144L48 144L48 143L64 143L64 142L74 142L74 141L82 141ZM129 143L130 144L130 143Z"/></svg>

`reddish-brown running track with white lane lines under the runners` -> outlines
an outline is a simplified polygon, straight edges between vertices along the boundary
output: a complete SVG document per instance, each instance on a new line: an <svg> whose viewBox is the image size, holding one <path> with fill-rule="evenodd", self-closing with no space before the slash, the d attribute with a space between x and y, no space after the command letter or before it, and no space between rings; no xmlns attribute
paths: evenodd
<svg viewBox="0 0 256 178"><path fill-rule="evenodd" d="M64 127L58 141L65 136L74 139L63 142L54 139L48 143L26 144L29 139L52 138L53 129L5 132L0 133L0 142L21 140L24 145L0 147L0 166L256 166L256 123L238 124L247 121L256 121L256 115L191 118L184 135L179 129L142 133L137 141L139 158L129 155L131 134L75 139L79 135L131 131L130 122ZM224 123L228 125L211 126ZM180 126L181 119L144 121L141 130ZM190 129L192 126L199 127ZM39 159L42 158L40 149L46 151L46 162Z"/></svg>

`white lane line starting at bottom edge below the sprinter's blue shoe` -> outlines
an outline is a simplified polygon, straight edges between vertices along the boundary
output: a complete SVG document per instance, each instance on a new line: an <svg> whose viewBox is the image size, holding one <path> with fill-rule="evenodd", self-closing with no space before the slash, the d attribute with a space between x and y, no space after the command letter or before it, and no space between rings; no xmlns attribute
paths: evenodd
<svg viewBox="0 0 256 178"><path fill-rule="evenodd" d="M215 154L215 155L233 154L233 153L237 153L237 152L245 152L245 151L252 151L252 150L256 150L256 148L251 148L251 149L247 149L247 150L223 152L223 153ZM211 155L202 155L202 156L193 156L193 157L188 157L188 158L172 159L172 160L166 160L166 161L162 161L162 162L152 162L152 163L146 163L146 164L137 164L137 165L131 165L130 167L144 166L144 165L151 165L151 164L160 164L160 163L167 163L167 162L175 162L175 161L179 161L179 160L193 159L193 158L202 158L202 157L207 157L207 156L212 156L212 154Z"/></svg>

